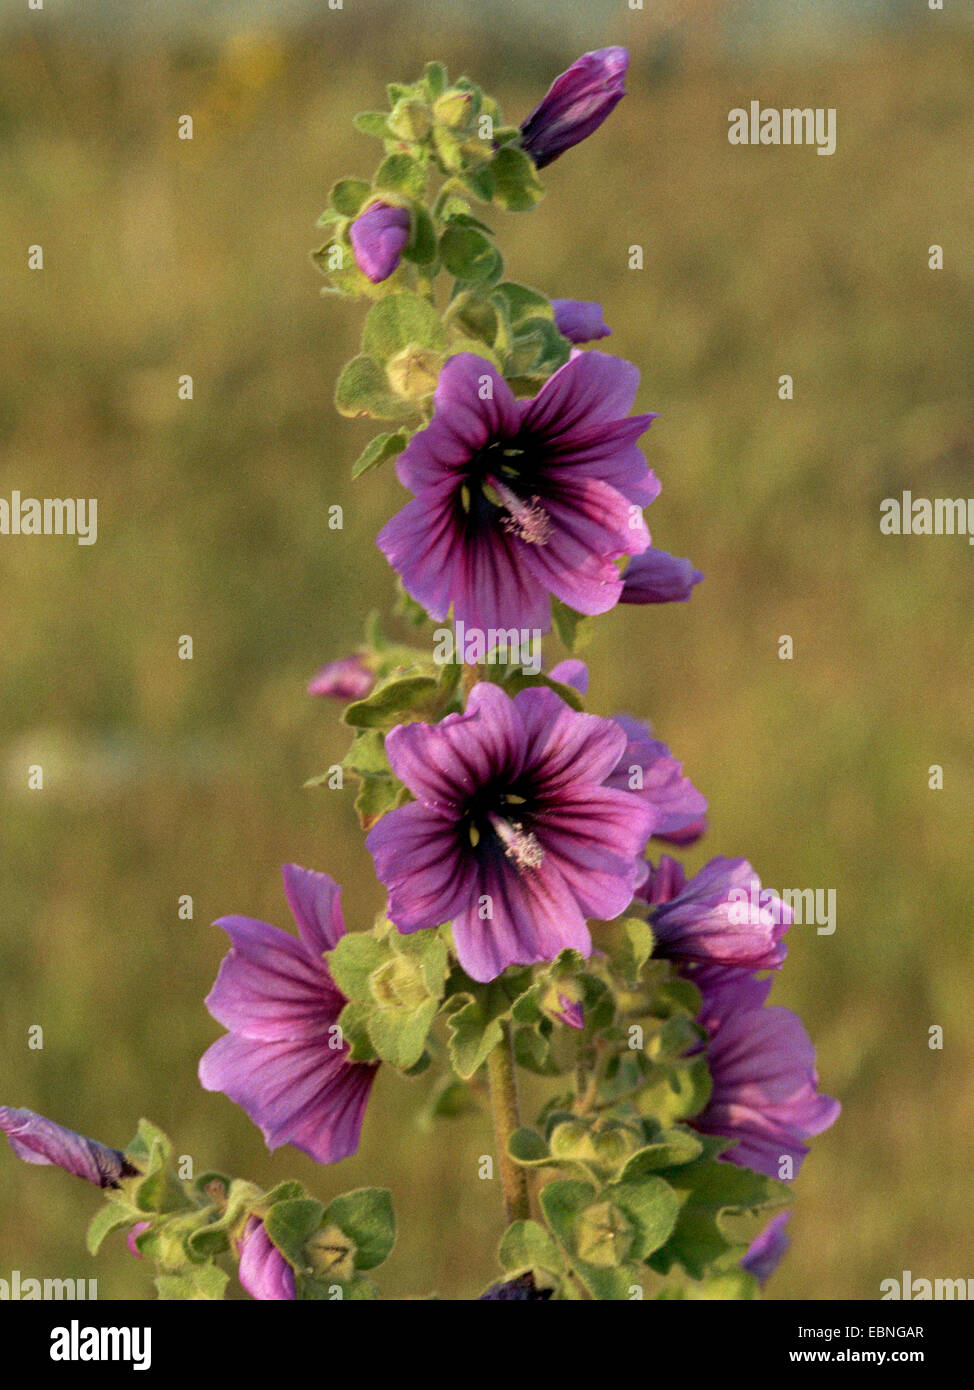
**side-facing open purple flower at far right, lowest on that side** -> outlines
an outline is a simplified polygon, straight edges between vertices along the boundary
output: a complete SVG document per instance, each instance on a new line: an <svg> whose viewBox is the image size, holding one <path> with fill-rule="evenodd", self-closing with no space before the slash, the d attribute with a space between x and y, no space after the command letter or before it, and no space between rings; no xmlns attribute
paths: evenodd
<svg viewBox="0 0 974 1390"><path fill-rule="evenodd" d="M803 1140L821 1134L839 1102L818 1094L816 1052L789 1009L766 1008L770 980L716 966L688 977L703 992L699 1023L707 1031L713 1091L691 1123L703 1134L739 1140L724 1155L767 1177L781 1177L789 1158L796 1175L809 1152Z"/></svg>

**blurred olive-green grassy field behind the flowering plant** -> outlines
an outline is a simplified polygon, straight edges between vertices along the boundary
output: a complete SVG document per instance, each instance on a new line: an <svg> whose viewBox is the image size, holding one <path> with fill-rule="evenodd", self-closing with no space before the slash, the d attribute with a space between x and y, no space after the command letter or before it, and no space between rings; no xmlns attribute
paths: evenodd
<svg viewBox="0 0 974 1390"><path fill-rule="evenodd" d="M604 43L631 47L631 95L531 218L492 221L511 277L602 300L661 417L653 538L707 578L688 605L599 623L591 708L652 717L709 795L695 866L739 853L777 888L838 894L835 934L795 929L774 987L843 1115L813 1144L770 1295L974 1273L974 553L878 530L903 488L974 495L974 39L921 6L814 32L771 32L767 10L229 3L207 28L158 6L125 42L46 11L0 58L0 495L99 499L94 546L0 539L0 1099L113 1144L146 1113L197 1168L324 1197L388 1184L390 1295L493 1276L486 1116L425 1133L431 1079L382 1073L360 1154L318 1169L268 1156L196 1080L221 1031L214 917L289 926L289 859L345 884L352 926L381 906L354 790L302 790L346 744L304 684L390 603L372 537L404 493L392 468L349 480L370 432L331 392L363 310L320 297L308 252L333 179L374 165L350 118L385 81L440 57L521 120ZM729 146L752 99L835 107L835 156ZM117 1237L85 1254L96 1194L6 1147L0 1165L1 1277L151 1294Z"/></svg>

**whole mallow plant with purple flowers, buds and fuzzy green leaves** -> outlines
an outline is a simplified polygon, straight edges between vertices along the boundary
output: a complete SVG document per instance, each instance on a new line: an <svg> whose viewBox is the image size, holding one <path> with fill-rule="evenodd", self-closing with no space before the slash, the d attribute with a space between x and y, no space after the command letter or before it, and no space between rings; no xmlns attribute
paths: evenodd
<svg viewBox="0 0 974 1390"><path fill-rule="evenodd" d="M656 417L634 411L639 373L585 346L610 334L597 303L506 281L471 204L531 210L538 171L613 111L627 64L622 49L585 54L517 126L428 64L390 86L388 113L356 121L383 158L371 182L333 186L315 260L329 289L371 303L336 404L389 424L354 474L396 459L411 493L378 548L417 645L372 623L308 689L349 702L353 741L329 785L360 783L385 909L346 933L335 880L285 866L297 937L221 919L231 947L206 999L226 1033L199 1065L203 1087L268 1148L320 1163L357 1150L381 1063L449 1063L434 1116L477 1105L486 1073L511 1223L488 1301L628 1298L642 1279L657 1297L749 1295L786 1245L782 1184L838 1113L800 1022L766 1004L789 910L745 859L686 878L660 849L700 841L706 798L645 721L584 709L589 621L685 602L703 578L652 545L660 482L639 441ZM475 659L420 645L450 620L478 638ZM545 673L525 634L557 635L568 655ZM763 903L743 922L741 895ZM514 1062L560 1079L535 1127L515 1112ZM0 1127L19 1156L114 1194L133 1252L193 1290L167 1297L215 1295L190 1269L213 1251L238 1258L254 1298L324 1297L329 1280L368 1297L361 1270L392 1243L377 1190L327 1209L299 1184L186 1191L158 1177L157 1134L122 1154L25 1111L0 1109ZM540 1186L535 1220L545 1169L568 1176ZM767 1223L745 1240L725 1209ZM699 1250L688 1229L706 1234Z"/></svg>

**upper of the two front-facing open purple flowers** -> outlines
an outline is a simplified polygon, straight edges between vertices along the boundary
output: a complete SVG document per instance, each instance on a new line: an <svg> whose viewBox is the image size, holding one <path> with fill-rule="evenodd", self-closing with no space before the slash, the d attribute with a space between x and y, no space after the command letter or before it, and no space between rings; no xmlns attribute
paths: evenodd
<svg viewBox="0 0 974 1390"><path fill-rule="evenodd" d="M413 598L481 630L547 631L552 594L607 612L616 560L649 545L641 509L660 491L636 446L656 417L627 418L638 382L631 363L575 352L515 400L484 357L452 357L431 424L396 463L415 500L378 538Z"/></svg>

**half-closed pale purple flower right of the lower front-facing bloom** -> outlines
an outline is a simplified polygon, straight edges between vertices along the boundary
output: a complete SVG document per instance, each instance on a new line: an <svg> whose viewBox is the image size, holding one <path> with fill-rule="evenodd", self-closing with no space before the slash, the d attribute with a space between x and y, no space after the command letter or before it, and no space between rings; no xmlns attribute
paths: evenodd
<svg viewBox="0 0 974 1390"><path fill-rule="evenodd" d="M659 955L745 970L778 969L786 952L781 938L792 917L777 894L761 888L746 859L723 856L706 863L672 898L657 901L649 915Z"/></svg>

